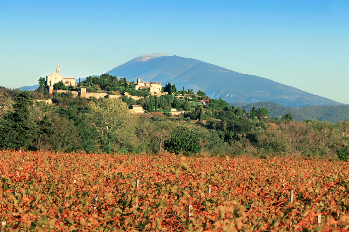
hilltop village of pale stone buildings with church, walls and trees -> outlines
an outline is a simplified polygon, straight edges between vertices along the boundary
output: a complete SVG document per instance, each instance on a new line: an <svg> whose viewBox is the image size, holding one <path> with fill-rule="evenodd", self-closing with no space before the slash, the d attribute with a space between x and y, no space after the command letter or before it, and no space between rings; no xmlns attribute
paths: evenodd
<svg viewBox="0 0 349 232"><path fill-rule="evenodd" d="M155 109L157 108L156 106L149 106L145 103L136 105L136 102L142 102L140 101L142 98L144 99L150 96L154 97L153 105L156 101L162 102L163 104L159 103L161 109L168 108L172 115L187 114L188 111L193 109L190 105L208 106L210 102L210 98L205 96L203 91L199 90L194 94L192 89L184 90L184 87L182 90L177 91L176 86L171 85L170 82L163 87L161 83L154 81L144 82L141 78L137 78L137 82L134 82L126 80L126 77L117 78L109 74L102 74L99 77L90 76L84 81L76 82L74 78L63 77L59 65L57 66L56 72L45 77L45 83L43 85L44 86L40 85L37 91L43 90L43 93L52 94L56 97L58 95L69 95L71 97L89 99L121 98L128 103L129 111L136 114L146 114L154 110L160 110ZM173 99L178 99L179 102L187 103L186 107L178 109L178 107L173 108L172 106L171 108ZM38 99L38 101L42 100ZM48 103L52 102L51 98L45 101ZM176 106L178 105L179 104L176 104ZM247 117L251 116L245 112L243 113L243 115Z"/></svg>

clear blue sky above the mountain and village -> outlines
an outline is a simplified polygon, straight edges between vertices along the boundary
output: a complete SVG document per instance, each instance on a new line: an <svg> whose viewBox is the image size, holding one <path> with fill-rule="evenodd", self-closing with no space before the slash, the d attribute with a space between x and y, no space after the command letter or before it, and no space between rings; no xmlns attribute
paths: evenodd
<svg viewBox="0 0 349 232"><path fill-rule="evenodd" d="M349 1L0 0L0 86L178 55L349 104Z"/></svg>

